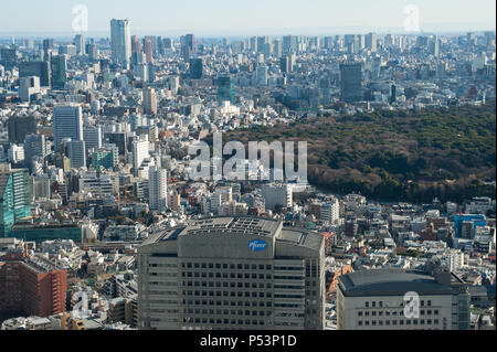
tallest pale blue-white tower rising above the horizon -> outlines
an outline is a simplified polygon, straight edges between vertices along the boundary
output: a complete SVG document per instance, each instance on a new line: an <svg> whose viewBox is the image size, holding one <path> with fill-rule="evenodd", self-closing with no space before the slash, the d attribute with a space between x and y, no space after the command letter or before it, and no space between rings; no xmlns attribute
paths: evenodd
<svg viewBox="0 0 497 352"><path fill-rule="evenodd" d="M131 21L110 21L110 49L114 63L127 67L131 61Z"/></svg>

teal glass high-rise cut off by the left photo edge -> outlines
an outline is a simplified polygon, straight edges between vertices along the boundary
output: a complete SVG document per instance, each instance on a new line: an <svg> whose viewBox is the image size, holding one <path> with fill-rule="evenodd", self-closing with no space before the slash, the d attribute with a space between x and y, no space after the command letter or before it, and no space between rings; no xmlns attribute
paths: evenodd
<svg viewBox="0 0 497 352"><path fill-rule="evenodd" d="M31 216L31 182L28 169L11 169L0 163L0 238L7 237L11 226Z"/></svg>

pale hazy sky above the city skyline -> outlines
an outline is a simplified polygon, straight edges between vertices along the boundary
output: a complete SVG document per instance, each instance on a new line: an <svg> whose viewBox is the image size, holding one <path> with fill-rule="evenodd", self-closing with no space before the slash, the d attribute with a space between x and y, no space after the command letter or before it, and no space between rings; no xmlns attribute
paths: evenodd
<svg viewBox="0 0 497 352"><path fill-rule="evenodd" d="M112 18L129 18L137 33L395 29L410 3L419 7L425 31L495 29L495 0L1 0L0 33L72 33L75 4L87 7L88 31L101 33Z"/></svg>

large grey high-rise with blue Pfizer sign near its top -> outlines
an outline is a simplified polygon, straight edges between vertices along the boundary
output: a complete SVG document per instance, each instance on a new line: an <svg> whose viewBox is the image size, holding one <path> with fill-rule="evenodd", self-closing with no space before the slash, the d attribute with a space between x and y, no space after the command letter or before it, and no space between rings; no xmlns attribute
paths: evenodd
<svg viewBox="0 0 497 352"><path fill-rule="evenodd" d="M322 236L282 221L205 218L152 234L137 256L139 329L322 330L324 262Z"/></svg>

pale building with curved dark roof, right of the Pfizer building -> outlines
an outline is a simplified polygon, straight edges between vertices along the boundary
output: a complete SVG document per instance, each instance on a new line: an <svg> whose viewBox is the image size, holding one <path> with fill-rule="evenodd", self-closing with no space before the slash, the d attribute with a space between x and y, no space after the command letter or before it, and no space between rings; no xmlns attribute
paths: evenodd
<svg viewBox="0 0 497 352"><path fill-rule="evenodd" d="M339 330L469 330L466 285L448 269L359 270L338 282ZM408 292L417 295L419 316L405 313Z"/></svg>

